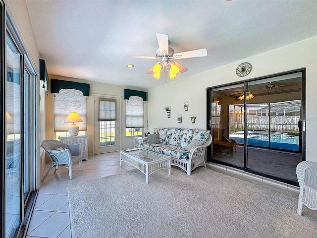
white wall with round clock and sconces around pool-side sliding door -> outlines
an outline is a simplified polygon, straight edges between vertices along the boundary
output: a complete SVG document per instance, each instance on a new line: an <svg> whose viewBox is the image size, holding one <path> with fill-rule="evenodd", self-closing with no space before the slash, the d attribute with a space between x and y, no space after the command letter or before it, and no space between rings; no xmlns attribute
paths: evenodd
<svg viewBox="0 0 317 238"><path fill-rule="evenodd" d="M251 73L243 78L235 73L241 62L252 64ZM206 88L298 68L306 68L306 160L317 161L317 36L149 89L149 130L167 126L206 128ZM185 101L189 103L188 112L184 112ZM164 111L168 105L170 119ZM197 115L195 124L189 119L192 113ZM183 116L181 124L177 123L179 114Z"/></svg>

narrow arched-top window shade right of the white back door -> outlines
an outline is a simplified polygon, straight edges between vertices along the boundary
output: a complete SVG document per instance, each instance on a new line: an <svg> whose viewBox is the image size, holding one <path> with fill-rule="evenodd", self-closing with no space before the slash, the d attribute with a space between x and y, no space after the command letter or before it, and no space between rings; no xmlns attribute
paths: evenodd
<svg viewBox="0 0 317 238"><path fill-rule="evenodd" d="M129 100L126 100L125 127L144 127L144 104L141 97L131 96Z"/></svg>

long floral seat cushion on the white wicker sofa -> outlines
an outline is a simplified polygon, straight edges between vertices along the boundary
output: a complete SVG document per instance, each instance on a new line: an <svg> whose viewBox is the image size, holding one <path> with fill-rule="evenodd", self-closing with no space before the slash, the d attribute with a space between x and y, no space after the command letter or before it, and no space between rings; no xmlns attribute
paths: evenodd
<svg viewBox="0 0 317 238"><path fill-rule="evenodd" d="M176 158L183 161L188 161L189 151L182 150L178 146L174 145L164 145L164 144L149 144L141 143L140 148L150 150L163 155L168 155L172 158Z"/></svg>

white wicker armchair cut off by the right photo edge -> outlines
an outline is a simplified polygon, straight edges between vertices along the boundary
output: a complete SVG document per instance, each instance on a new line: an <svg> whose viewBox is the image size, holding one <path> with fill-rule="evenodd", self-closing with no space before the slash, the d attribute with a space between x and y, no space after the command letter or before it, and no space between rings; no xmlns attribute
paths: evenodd
<svg viewBox="0 0 317 238"><path fill-rule="evenodd" d="M300 186L298 197L298 215L302 215L303 204L309 209L317 210L317 162L303 161L296 167Z"/></svg>

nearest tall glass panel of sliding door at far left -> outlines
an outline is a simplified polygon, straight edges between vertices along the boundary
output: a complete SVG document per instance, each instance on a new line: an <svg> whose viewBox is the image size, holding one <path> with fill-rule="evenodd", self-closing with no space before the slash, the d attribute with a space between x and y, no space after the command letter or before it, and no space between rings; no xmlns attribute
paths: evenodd
<svg viewBox="0 0 317 238"><path fill-rule="evenodd" d="M6 199L5 237L14 237L21 224L21 54L7 36L5 82Z"/></svg>

